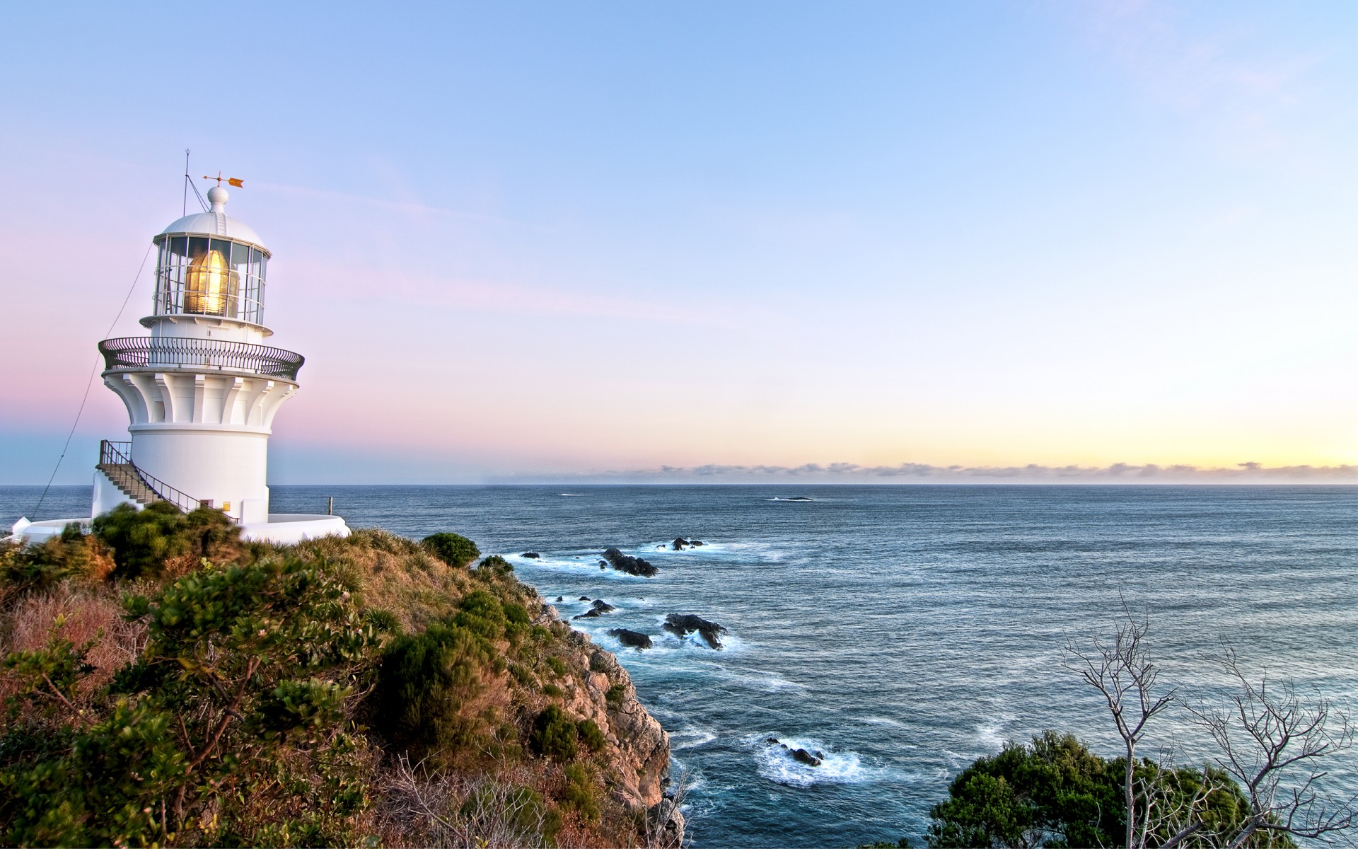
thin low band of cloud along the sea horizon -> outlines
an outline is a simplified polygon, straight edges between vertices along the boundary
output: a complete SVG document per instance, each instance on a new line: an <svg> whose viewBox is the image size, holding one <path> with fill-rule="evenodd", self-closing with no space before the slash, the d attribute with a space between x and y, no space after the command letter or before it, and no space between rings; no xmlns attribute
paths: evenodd
<svg viewBox="0 0 1358 849"><path fill-rule="evenodd" d="M524 478L527 475L519 475ZM1111 466L933 466L900 463L804 463L801 466L659 466L626 471L546 475L550 480L617 482L766 482L766 484L1358 484L1358 466L1264 466L1245 462L1232 467L1114 463Z"/></svg>

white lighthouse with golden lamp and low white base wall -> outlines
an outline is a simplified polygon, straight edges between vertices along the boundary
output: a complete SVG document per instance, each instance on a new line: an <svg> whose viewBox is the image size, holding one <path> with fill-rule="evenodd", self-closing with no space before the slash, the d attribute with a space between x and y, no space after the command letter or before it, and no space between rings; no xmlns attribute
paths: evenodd
<svg viewBox="0 0 1358 849"><path fill-rule="evenodd" d="M221 509L247 539L297 542L349 534L331 515L270 513L268 446L273 417L297 391L301 355L272 348L263 325L269 249L228 217L230 194L208 192L208 212L189 215L153 242L156 288L151 336L105 340L103 382L122 398L128 441L103 440L91 516L118 504L171 501L183 511ZM71 522L14 526L41 541Z"/></svg>

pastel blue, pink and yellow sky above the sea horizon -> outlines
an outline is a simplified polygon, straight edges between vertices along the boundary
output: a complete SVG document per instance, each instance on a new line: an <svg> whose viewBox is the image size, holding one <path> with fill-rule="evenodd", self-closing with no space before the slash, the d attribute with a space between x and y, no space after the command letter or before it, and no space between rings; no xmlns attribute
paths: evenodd
<svg viewBox="0 0 1358 849"><path fill-rule="evenodd" d="M1358 482L1355 48L1348 0L5 4L0 484L145 333L186 148L307 357L273 484ZM126 421L95 376L57 482Z"/></svg>

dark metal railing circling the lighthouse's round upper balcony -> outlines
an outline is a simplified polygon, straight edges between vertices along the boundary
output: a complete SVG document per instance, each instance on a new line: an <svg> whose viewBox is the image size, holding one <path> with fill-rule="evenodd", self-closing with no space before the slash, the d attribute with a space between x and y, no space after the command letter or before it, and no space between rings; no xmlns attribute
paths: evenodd
<svg viewBox="0 0 1358 849"><path fill-rule="evenodd" d="M297 379L306 363L300 353L281 348L200 340L182 336L132 336L99 342L105 369L190 368L193 371L243 371L269 378Z"/></svg>

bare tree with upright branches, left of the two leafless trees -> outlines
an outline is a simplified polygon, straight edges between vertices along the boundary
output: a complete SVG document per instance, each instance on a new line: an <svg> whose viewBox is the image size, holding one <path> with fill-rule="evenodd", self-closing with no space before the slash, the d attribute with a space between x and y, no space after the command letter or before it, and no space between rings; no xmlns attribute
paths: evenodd
<svg viewBox="0 0 1358 849"><path fill-rule="evenodd" d="M1157 694L1156 683L1160 671L1150 662L1143 645L1150 622L1145 615L1137 619L1130 611L1126 613L1127 618L1118 625L1111 643L1095 637L1090 648L1081 648L1074 641L1067 640L1063 666L1103 694L1108 704L1108 712L1112 713L1118 735L1122 738L1127 758L1126 774L1123 776L1123 803L1127 807L1127 842L1124 845L1134 849L1142 846L1143 844L1138 839L1145 839L1149 834L1137 822L1137 811L1145 807L1145 792L1135 780L1137 746L1146 735L1146 724L1168 708L1175 701L1176 694L1172 689ZM1138 801L1142 804L1138 806ZM1186 829L1190 827L1186 826ZM1192 830L1175 835L1169 845L1177 845Z"/></svg>

